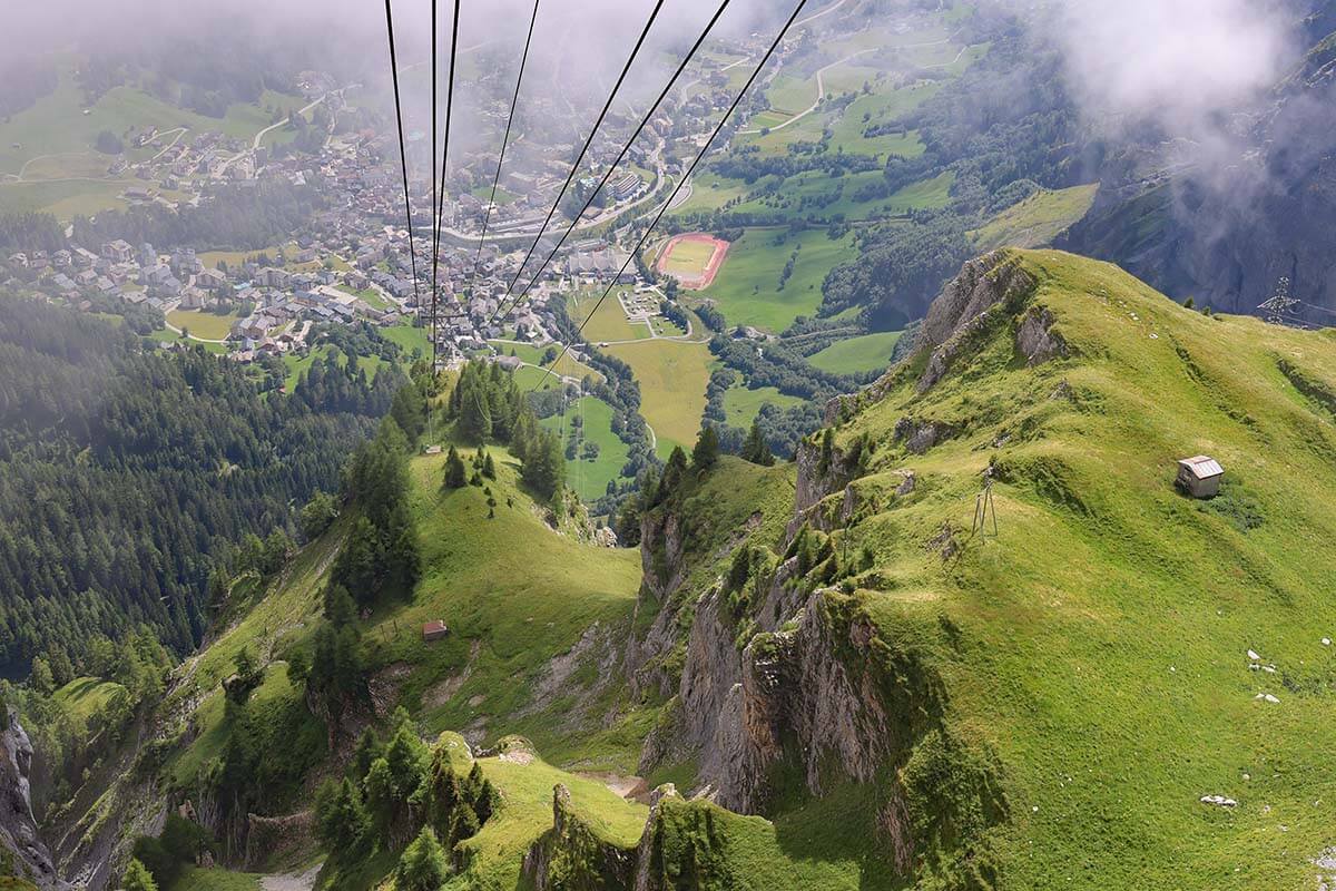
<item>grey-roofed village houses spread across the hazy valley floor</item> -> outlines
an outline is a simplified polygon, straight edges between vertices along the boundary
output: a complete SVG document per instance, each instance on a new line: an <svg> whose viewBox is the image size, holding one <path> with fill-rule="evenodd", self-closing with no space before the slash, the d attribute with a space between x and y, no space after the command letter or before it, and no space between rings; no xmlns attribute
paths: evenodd
<svg viewBox="0 0 1336 891"><path fill-rule="evenodd" d="M87 311L108 311L120 302L124 310L160 313L164 321L159 330L176 335L164 335L164 345L199 342L239 362L251 362L266 354L309 350L311 333L321 323L429 329L434 275L437 354L442 365L492 355L490 342L498 339L552 343L560 338L550 301L565 302L573 290L609 282L645 286L637 264L628 262L628 252L619 247L619 234L628 228L623 218L633 219L637 211L652 210L653 202L667 196L683 172L679 155L699 146L708 134L709 115L727 104L727 77L713 71L720 65L708 60L703 64L705 69L687 84L676 107L663 108L647 124L560 251L557 242L570 226L569 216L557 214L546 230L542 223L570 172L577 146L545 140L513 146L490 204L485 200L489 192L474 184L490 183L496 154L480 150L453 158L442 203L441 251L433 270L426 178L411 183L410 252L390 135L339 127L341 115L350 107L347 88L335 87L327 75L305 72L305 107L275 120L253 140L184 128L143 128L130 139L142 159L131 162L123 155L108 170L143 182L123 194L131 206L172 211L207 207L219 190L254 188L266 182L318 188L326 210L315 214L290 243L235 251L227 262L218 259L222 251L208 252L204 246L198 246L196 252L196 247L160 250L126 239L83 244L73 239L71 226L65 230L68 243L60 250L0 256L0 281L8 278L5 283L19 291ZM500 119L504 108L489 114ZM589 175L577 178L568 192L595 195L621 151L619 131L637 123L625 114L609 120L616 126L592 139L581 164L581 172ZM266 135L283 127L295 127L297 139L310 151L271 150ZM310 132L317 138L311 139ZM619 135L615 139L608 134ZM409 167L417 168L411 163ZM553 260L544 264L553 252ZM516 299L524 291L524 299ZM623 305L623 310L628 321L649 322L657 315L657 299ZM180 322L194 314L226 319L226 335L206 334Z"/></svg>

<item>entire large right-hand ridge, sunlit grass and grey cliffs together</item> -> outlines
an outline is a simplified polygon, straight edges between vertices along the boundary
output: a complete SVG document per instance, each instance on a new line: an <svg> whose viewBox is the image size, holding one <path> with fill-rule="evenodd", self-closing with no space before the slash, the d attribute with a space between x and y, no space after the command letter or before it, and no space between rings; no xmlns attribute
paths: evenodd
<svg viewBox="0 0 1336 891"><path fill-rule="evenodd" d="M1332 394L1329 333L1057 251L971 262L796 478L758 476L783 510L715 521L728 462L647 516L639 647L673 699L643 771L915 887L1311 887L1336 558L1295 542L1336 536ZM1173 486L1201 453L1210 502ZM728 811L665 801L660 850L736 866Z"/></svg>

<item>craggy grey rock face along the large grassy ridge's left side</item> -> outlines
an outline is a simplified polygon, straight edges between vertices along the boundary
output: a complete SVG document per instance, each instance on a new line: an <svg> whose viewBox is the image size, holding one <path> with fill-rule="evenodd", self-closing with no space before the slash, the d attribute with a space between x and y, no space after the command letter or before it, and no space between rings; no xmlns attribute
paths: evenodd
<svg viewBox="0 0 1336 891"><path fill-rule="evenodd" d="M1035 279L1015 259L998 251L967 263L934 303L915 357L832 405L828 419L839 423L895 386L933 389L958 355L999 327L1010 326L1007 337L1030 365L1066 355L1051 313L1031 306ZM914 493L912 472L863 480L876 449L919 454L954 434L949 423L906 415L887 442L832 431L803 442L778 534L768 520L751 530L728 520L716 528L692 509L712 497L708 490L647 513L641 608L657 612L631 647L639 660L632 673L639 668L645 679L653 665L652 687L671 701L647 740L644 772L691 760L696 776L685 791L740 814L776 814L794 800L862 788L866 819L904 875L929 851L973 844L973 835L947 832L927 812L961 808L987 815L983 822L1005 812L987 759L950 728L935 644L894 643L899 629L872 618L852 581L870 558L847 549L878 505ZM967 800L915 768L937 759L974 777ZM950 818L945 824L954 826ZM644 866L641 859L641 872Z"/></svg>

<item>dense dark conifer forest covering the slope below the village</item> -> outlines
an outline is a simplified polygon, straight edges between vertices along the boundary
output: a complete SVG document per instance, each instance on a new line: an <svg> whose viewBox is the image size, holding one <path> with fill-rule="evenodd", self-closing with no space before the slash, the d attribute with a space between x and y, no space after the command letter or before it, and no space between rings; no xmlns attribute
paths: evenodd
<svg viewBox="0 0 1336 891"><path fill-rule="evenodd" d="M317 363L293 398L203 350L0 295L0 673L75 667L96 635L200 639L211 569L338 488L403 375Z"/></svg>

